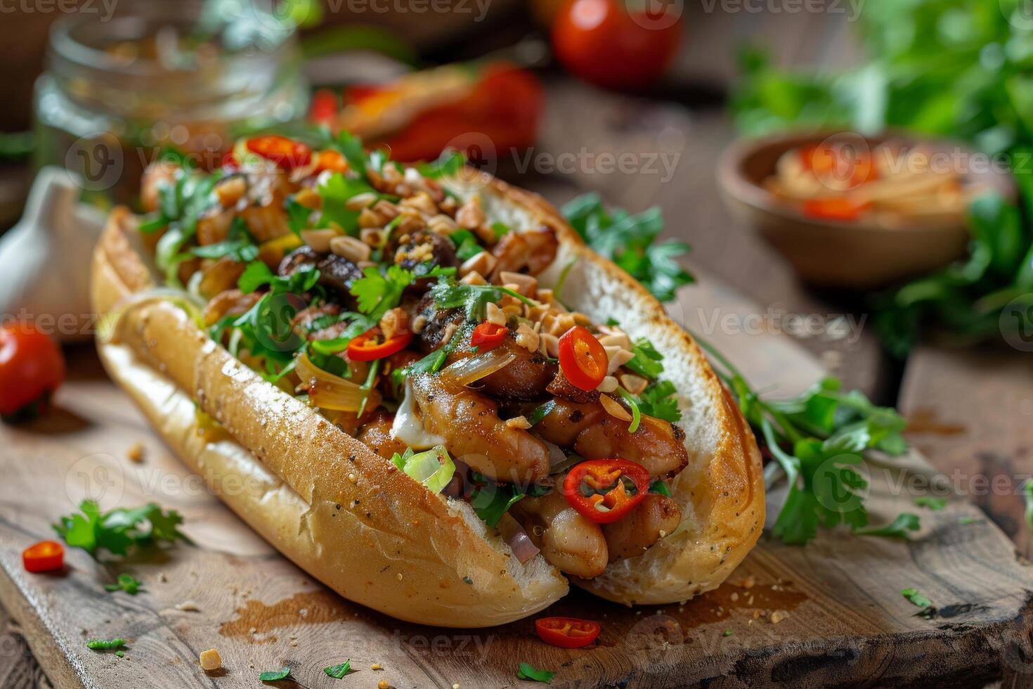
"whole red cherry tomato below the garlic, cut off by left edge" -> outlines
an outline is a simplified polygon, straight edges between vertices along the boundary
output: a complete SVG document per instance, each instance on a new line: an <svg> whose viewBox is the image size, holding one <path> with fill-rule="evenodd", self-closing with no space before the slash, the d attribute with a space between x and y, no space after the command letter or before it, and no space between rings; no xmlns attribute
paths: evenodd
<svg viewBox="0 0 1033 689"><path fill-rule="evenodd" d="M0 417L34 415L64 380L54 340L26 322L0 327Z"/></svg>

